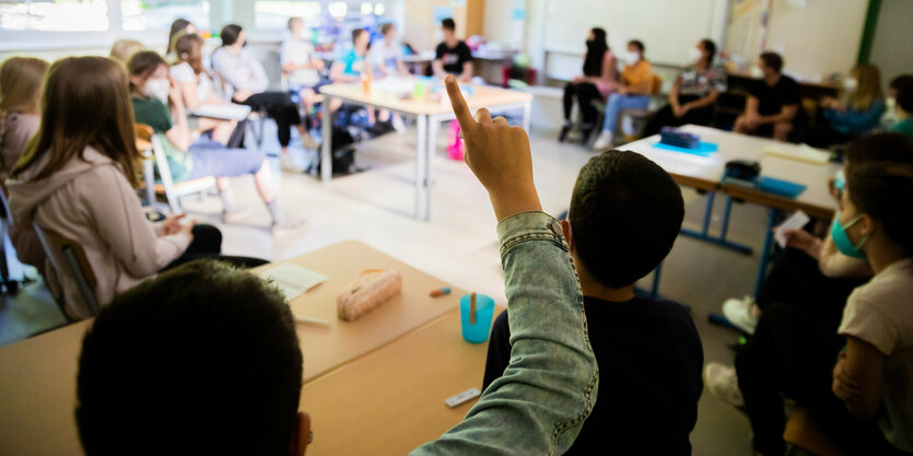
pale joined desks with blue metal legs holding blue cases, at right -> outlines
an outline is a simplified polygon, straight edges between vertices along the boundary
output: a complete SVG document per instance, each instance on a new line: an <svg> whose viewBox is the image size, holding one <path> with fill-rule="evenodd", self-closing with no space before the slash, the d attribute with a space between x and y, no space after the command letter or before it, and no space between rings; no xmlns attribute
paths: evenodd
<svg viewBox="0 0 913 456"><path fill-rule="evenodd" d="M753 202L769 209L766 236L764 238L760 269L756 280L757 294L766 272L769 254L773 247L773 233L771 230L777 218L784 211L801 210L812 218L822 220L831 219L836 209L836 201L831 197L827 182L828 178L833 177L836 171L840 169L840 165L834 163L818 165L764 153L769 148L776 148L782 152L798 151L800 147L797 144L783 143L771 139L733 133L695 125L687 125L681 129L700 135L702 141L718 144L718 151L711 156L704 157L657 149L653 144L659 141L658 136L644 138L620 145L617 149L641 153L656 162L659 166L663 166L679 185L707 191L707 202L701 231L695 232L682 229L682 234L684 235L750 254L750 247L733 243L726 238L733 199ZM801 184L807 186L807 188L796 199L791 199L753 188L723 184L721 182L723 172L726 167L726 162L730 160L760 162L762 176ZM726 204L719 234L711 235L710 221L713 212L715 192L721 192L726 196ZM654 281L654 293L658 287L657 283L657 281Z"/></svg>

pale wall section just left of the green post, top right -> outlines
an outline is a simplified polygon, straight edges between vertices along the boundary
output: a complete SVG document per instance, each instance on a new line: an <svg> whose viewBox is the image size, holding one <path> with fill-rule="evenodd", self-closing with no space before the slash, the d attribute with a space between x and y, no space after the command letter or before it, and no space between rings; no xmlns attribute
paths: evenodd
<svg viewBox="0 0 913 456"><path fill-rule="evenodd" d="M774 0L764 47L781 52L786 70L804 80L846 73L859 54L867 9L867 0L806 0L805 8Z"/></svg>

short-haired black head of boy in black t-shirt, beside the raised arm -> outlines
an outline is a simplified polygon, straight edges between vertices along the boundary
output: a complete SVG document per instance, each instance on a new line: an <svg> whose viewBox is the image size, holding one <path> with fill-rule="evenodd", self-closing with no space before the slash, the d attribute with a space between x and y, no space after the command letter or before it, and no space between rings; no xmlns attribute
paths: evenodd
<svg viewBox="0 0 913 456"><path fill-rule="evenodd" d="M684 218L681 189L659 165L608 151L577 176L569 221L577 258L609 288L646 276L672 248Z"/></svg>

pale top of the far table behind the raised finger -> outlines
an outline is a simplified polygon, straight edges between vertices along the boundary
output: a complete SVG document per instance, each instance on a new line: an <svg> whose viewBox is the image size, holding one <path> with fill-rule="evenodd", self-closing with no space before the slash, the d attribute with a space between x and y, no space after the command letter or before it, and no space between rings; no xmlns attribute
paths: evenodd
<svg viewBox="0 0 913 456"><path fill-rule="evenodd" d="M384 92L376 87L372 87L372 92L365 94L364 87L360 82L324 85L320 87L320 93L327 96L348 100L353 103L383 107L412 115L453 115L450 103L445 93L431 94L435 84L443 86L443 83L426 83L425 93L428 96L422 102L417 102L411 98L403 100L400 94ZM532 95L526 92L475 84L472 84L472 89L476 93L466 97L466 103L469 104L469 108L472 110L480 107L493 108L504 105L522 104L532 100Z"/></svg>

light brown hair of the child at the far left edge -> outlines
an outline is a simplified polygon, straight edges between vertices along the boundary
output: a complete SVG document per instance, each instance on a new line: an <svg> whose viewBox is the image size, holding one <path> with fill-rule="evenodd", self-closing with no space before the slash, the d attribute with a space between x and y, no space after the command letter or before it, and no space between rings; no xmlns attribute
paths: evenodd
<svg viewBox="0 0 913 456"><path fill-rule="evenodd" d="M0 67L0 110L38 110L48 67L48 62L32 57L4 61Z"/></svg>

